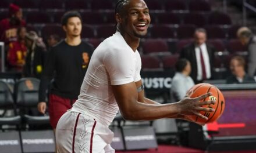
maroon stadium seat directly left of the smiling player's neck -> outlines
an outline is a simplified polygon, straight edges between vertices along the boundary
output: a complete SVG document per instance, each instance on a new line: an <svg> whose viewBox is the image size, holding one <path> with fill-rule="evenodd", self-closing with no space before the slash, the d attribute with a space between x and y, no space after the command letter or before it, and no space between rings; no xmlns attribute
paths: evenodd
<svg viewBox="0 0 256 153"><path fill-rule="evenodd" d="M108 38L115 34L115 25L99 25L97 27L97 38Z"/></svg>

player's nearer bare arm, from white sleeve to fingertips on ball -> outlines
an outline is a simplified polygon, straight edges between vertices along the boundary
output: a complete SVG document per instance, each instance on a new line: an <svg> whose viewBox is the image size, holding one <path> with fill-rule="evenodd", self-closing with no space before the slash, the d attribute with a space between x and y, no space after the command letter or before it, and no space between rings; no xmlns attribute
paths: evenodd
<svg viewBox="0 0 256 153"><path fill-rule="evenodd" d="M202 105L215 103L215 101L204 101L200 103L201 99L210 96L209 93L193 99L186 98L178 103L149 104L138 102L137 87L134 82L124 85L113 85L112 89L123 118L131 121L150 121L178 115L197 115L200 118L207 119L207 117L201 115L199 111L214 111L209 108L201 107Z"/></svg>

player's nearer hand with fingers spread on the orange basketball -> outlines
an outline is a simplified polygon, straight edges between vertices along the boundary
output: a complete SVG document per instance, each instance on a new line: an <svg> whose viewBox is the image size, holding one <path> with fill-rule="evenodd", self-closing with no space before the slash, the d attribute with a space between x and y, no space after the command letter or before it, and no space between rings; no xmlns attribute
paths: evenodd
<svg viewBox="0 0 256 153"><path fill-rule="evenodd" d="M215 110L213 108L204 108L202 107L203 105L210 105L210 104L215 104L215 101L210 100L210 101L202 101L201 100L211 96L212 93L206 93L203 94L202 96L198 96L195 98L184 98L179 101L179 112L182 115L196 115L202 119L208 119L207 116L204 116L200 114L200 111L205 111L205 112L214 112Z"/></svg>

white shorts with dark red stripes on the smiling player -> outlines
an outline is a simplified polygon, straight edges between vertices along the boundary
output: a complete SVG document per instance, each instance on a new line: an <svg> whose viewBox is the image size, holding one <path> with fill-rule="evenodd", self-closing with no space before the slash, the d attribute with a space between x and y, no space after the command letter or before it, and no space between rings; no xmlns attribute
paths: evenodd
<svg viewBox="0 0 256 153"><path fill-rule="evenodd" d="M115 152L111 148L113 132L86 114L67 111L56 127L56 147L59 153Z"/></svg>

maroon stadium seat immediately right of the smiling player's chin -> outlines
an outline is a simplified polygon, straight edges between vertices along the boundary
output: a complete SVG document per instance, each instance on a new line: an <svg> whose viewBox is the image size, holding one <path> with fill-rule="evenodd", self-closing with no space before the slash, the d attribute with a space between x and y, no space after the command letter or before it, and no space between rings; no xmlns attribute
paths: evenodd
<svg viewBox="0 0 256 153"><path fill-rule="evenodd" d="M175 38L172 27L168 25L154 25L151 28L152 38Z"/></svg>

